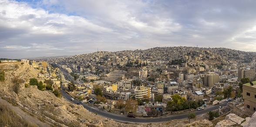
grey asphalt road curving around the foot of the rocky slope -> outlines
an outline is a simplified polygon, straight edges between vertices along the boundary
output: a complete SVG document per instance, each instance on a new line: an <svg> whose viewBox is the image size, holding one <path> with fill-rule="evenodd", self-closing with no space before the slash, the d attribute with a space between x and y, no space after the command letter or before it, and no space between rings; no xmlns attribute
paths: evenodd
<svg viewBox="0 0 256 127"><path fill-rule="evenodd" d="M74 100L71 101L70 100L70 96L64 91L61 90L62 95L67 99L67 101L73 103L73 104L77 104L79 103L78 100ZM156 117L156 118L143 118L143 117L136 117L136 118L131 118L131 117L126 117L126 115L120 115L120 114L114 114L114 113L110 113L107 111L102 111L98 108L94 108L91 107L87 104L82 104L84 106L84 108L86 108L88 111L94 113L97 112L97 114L101 117L105 117L108 119L113 119L115 121L118 122L123 122L123 123L132 123L132 124L136 124L136 123L155 123L155 122L165 122L165 121L169 121L169 120L174 120L174 119L184 119L184 118L188 118L188 113L183 113L183 114L175 114L175 115L169 115L169 116L163 116L163 117ZM219 105L212 105L210 107L205 107L204 110L202 111L194 111L194 113L196 115L199 114L204 114L207 113L208 111L213 111L219 108L219 106L225 106L227 105L227 102L222 102Z"/></svg>

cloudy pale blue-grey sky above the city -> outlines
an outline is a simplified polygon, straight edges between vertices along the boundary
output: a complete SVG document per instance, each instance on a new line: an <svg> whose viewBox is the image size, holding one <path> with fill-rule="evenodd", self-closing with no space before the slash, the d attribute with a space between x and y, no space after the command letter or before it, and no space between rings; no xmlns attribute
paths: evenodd
<svg viewBox="0 0 256 127"><path fill-rule="evenodd" d="M0 0L0 58L164 46L256 52L256 0Z"/></svg>

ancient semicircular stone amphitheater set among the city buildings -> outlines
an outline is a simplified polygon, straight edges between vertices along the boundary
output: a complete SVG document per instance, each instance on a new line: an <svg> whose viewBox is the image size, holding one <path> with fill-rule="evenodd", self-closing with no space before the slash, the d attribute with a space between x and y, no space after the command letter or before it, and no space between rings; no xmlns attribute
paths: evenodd
<svg viewBox="0 0 256 127"><path fill-rule="evenodd" d="M104 75L103 80L105 81L117 81L125 79L126 71L122 70L115 70L114 72L110 72Z"/></svg>

